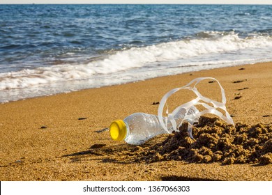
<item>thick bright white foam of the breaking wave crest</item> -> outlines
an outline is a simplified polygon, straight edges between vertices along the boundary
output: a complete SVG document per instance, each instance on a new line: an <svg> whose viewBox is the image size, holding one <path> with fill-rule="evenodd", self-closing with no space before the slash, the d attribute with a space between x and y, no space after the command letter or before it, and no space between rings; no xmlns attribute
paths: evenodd
<svg viewBox="0 0 272 195"><path fill-rule="evenodd" d="M59 81L71 81L81 79L91 79L97 75L112 75L115 72L126 72L128 70L137 70L139 68L149 68L153 65L153 71L163 64L160 69L171 67L183 67L182 72L186 72L184 68L189 65L203 66L205 63L214 65L220 63L220 56L228 54L236 59L224 59L232 65L237 61L243 63L250 60L264 61L264 56L252 56L255 49L264 49L264 52L271 51L271 36L252 36L240 38L236 33L223 34L220 32L205 32L209 34L209 38L185 39L173 42L165 42L158 45L146 47L133 47L127 50L121 50L111 54L105 59L92 61L87 64L61 64L48 67L40 67L33 70L25 69L18 72L0 73L0 91L27 88L38 84L52 84ZM266 48L269 48L267 50ZM245 55L239 59L239 52ZM207 59L201 61L201 58ZM194 59L199 59L194 61ZM223 61L224 61L223 60ZM177 63L176 63L177 62ZM137 68L137 69L135 69ZM201 69L201 68L200 68ZM188 69L188 71L190 71ZM172 72L174 73L174 72ZM125 76L124 76L125 77ZM145 79L137 78L137 79ZM122 80L122 77L120 77Z"/></svg>

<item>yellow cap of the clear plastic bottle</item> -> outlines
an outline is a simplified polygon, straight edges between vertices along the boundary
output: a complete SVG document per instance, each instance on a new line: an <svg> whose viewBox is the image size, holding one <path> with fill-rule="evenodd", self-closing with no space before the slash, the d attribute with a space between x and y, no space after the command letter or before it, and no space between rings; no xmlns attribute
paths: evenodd
<svg viewBox="0 0 272 195"><path fill-rule="evenodd" d="M123 120L114 120L109 126L109 134L115 141L122 141L126 138L126 124Z"/></svg>

